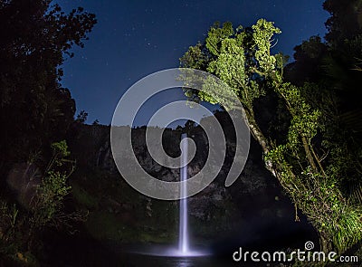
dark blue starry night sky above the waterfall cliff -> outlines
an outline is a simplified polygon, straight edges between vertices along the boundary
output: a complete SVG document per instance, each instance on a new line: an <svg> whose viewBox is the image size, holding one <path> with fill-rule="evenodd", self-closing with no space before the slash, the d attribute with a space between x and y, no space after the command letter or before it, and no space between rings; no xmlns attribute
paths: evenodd
<svg viewBox="0 0 362 267"><path fill-rule="evenodd" d="M215 21L249 26L259 18L281 28L275 52L292 55L293 47L311 35L324 36L329 14L316 0L117 1L58 0L65 11L82 6L97 15L98 24L84 49L64 63L62 85L71 90L77 112L89 113L88 123L110 124L121 95L139 79L178 66L190 45L205 39ZM182 98L180 91L148 103L143 112ZM151 108L152 107L152 108ZM144 124L142 115L137 124Z"/></svg>

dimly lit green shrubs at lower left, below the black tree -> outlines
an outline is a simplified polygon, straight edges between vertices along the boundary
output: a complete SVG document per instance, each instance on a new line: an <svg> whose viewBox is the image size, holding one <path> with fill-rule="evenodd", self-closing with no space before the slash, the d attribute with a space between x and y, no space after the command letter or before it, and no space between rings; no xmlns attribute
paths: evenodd
<svg viewBox="0 0 362 267"><path fill-rule="evenodd" d="M74 163L65 141L52 144L52 159L43 174L41 184L33 195L29 210L0 202L0 255L16 262L34 262L32 253L42 245L40 235L45 227L71 229L71 222L84 219L80 213L63 212L63 201L71 186L68 178ZM68 170L66 170L68 168Z"/></svg>

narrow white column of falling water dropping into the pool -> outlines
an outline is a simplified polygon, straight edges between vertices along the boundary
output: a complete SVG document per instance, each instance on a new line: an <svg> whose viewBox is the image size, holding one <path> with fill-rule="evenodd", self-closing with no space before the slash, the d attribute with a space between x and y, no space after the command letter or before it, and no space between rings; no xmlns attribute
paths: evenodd
<svg viewBox="0 0 362 267"><path fill-rule="evenodd" d="M187 138L186 133L182 134L181 140ZM182 157L181 157L181 169L180 179L181 181L187 180L187 142L182 143ZM188 227L187 227L187 185L186 183L181 186L180 190L180 224L179 224L179 236L178 236L178 249L181 253L186 254L189 251L188 247Z"/></svg>

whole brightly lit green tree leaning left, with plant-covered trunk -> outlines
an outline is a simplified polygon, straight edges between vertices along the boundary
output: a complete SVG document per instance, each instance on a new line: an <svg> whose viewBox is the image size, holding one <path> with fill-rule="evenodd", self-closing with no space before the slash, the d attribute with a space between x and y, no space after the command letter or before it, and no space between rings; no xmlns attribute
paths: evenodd
<svg viewBox="0 0 362 267"><path fill-rule="evenodd" d="M271 54L276 33L281 31L263 19L246 29L234 30L231 23L215 24L205 43L189 48L181 66L211 72L236 92L252 136L262 147L265 167L317 229L321 249L342 253L361 238L361 209L349 204L339 187L339 173L324 160L328 155L322 153L319 136L323 129L321 111L303 96L305 91L316 90L315 85L297 87L286 82L285 57ZM191 100L218 102L214 96L192 90L186 95ZM274 110L268 110L280 115L279 122L287 122L278 138L267 130L262 114L256 112L261 100L279 102Z"/></svg>

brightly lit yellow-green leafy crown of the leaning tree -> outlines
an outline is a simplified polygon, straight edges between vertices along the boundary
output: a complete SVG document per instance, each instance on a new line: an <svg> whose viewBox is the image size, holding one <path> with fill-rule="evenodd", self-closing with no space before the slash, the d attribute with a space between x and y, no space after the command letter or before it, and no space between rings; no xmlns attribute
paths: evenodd
<svg viewBox="0 0 362 267"><path fill-rule="evenodd" d="M267 29L268 33L264 34L263 28ZM223 27L214 24L205 39L205 46L198 43L195 47L190 47L180 59L183 67L214 73L226 82L240 95L240 100L249 112L252 112L253 100L265 93L262 83L257 82L260 77L252 77L252 74L272 71L271 62L276 62L276 59L274 56L262 56L262 51L271 46L272 33L280 33L278 28L265 20L258 21L252 29L253 32L251 29L238 27L234 31L231 23L225 23ZM214 86L205 83L205 86ZM186 91L186 95L197 100L195 91ZM218 97L221 98L221 95ZM214 99L215 96L202 92L198 94L198 98L211 103L220 102Z"/></svg>

